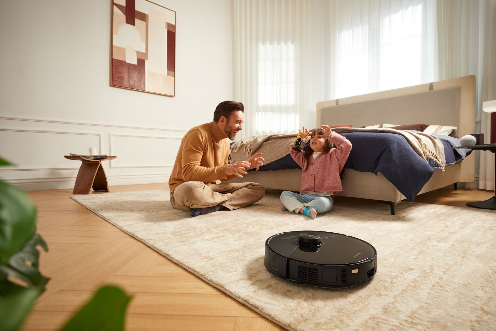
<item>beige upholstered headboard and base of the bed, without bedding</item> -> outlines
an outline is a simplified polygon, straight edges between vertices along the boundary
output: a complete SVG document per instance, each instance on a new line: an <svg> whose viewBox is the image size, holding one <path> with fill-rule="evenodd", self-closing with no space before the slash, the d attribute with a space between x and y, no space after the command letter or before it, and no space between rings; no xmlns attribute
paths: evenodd
<svg viewBox="0 0 496 331"><path fill-rule="evenodd" d="M317 102L315 122L317 127L350 123L354 128L384 123L435 124L457 127L450 135L462 137L475 132L475 76ZM452 184L456 189L458 182L472 183L474 167L475 158L468 155L462 162L446 166L444 173L434 169L432 177L418 194ZM299 192L301 172L301 169L253 171L230 182L255 182L266 189ZM406 199L381 173L376 175L346 169L342 186L340 196L387 203L393 215L396 203Z"/></svg>

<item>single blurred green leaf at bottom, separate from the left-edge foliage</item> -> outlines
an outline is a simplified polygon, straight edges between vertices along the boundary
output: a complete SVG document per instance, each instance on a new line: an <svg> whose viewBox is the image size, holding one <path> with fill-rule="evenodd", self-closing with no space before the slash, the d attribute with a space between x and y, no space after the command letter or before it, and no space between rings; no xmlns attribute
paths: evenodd
<svg viewBox="0 0 496 331"><path fill-rule="evenodd" d="M61 331L122 331L128 296L119 287L103 286Z"/></svg>

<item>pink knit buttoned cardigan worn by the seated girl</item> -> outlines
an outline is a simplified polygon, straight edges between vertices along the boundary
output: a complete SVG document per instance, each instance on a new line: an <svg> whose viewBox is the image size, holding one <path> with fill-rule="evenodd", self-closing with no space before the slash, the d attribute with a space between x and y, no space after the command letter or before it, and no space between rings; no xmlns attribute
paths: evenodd
<svg viewBox="0 0 496 331"><path fill-rule="evenodd" d="M336 132L331 132L327 140L332 141L335 148L331 148L325 154L319 154L315 160L313 156L310 156L310 164L307 170L302 173L301 193L333 192L333 196L335 196L338 192L343 191L339 173L343 170L352 145L350 140ZM304 151L293 147L290 147L290 150L296 163L305 169Z"/></svg>

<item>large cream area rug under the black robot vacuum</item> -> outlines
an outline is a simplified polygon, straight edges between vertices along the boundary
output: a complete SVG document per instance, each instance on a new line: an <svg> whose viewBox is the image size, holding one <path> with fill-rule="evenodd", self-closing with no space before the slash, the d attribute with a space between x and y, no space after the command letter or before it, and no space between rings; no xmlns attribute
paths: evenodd
<svg viewBox="0 0 496 331"><path fill-rule="evenodd" d="M280 210L279 195L197 217L172 208L167 190L71 198L288 330L495 330L496 211L403 201L390 215L382 203L337 199L311 220ZM300 230L371 243L374 278L321 289L272 275L265 240Z"/></svg>

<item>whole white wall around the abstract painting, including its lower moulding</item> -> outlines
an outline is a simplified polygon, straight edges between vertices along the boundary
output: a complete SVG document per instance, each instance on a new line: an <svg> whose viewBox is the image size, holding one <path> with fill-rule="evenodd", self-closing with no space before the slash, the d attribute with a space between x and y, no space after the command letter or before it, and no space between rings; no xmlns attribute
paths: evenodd
<svg viewBox="0 0 496 331"><path fill-rule="evenodd" d="M176 96L110 87L111 0L2 1L0 178L70 188L99 147L109 185L167 182L180 138L232 99L229 0L154 0L177 12Z"/></svg>

